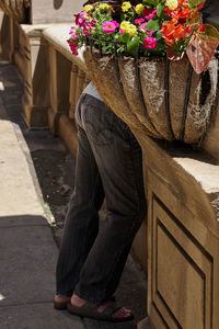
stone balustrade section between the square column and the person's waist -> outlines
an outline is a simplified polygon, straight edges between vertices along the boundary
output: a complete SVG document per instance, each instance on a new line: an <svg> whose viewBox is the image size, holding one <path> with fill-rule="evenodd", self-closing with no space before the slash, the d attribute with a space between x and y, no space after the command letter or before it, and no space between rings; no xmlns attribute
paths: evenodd
<svg viewBox="0 0 219 329"><path fill-rule="evenodd" d="M73 124L76 105L89 83L82 52L73 57L67 39L70 26L55 26L43 31L49 52L50 106L49 127L66 141L76 155L77 133Z"/></svg>

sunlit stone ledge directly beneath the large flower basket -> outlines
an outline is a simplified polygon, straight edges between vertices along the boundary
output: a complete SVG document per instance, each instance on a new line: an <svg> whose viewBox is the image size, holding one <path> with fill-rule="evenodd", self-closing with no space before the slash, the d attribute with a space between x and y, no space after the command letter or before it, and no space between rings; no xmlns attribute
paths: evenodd
<svg viewBox="0 0 219 329"><path fill-rule="evenodd" d="M166 147L164 143L134 133L143 151L145 172L150 171L159 178L178 206L189 209L208 230L219 237L216 209L219 198L219 167L214 158L191 147Z"/></svg>

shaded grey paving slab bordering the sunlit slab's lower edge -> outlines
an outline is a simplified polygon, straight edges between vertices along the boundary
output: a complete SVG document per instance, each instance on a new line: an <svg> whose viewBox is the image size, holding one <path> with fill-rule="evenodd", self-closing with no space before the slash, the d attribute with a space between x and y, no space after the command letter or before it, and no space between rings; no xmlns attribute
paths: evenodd
<svg viewBox="0 0 219 329"><path fill-rule="evenodd" d="M57 252L49 227L1 228L0 306L51 302Z"/></svg>

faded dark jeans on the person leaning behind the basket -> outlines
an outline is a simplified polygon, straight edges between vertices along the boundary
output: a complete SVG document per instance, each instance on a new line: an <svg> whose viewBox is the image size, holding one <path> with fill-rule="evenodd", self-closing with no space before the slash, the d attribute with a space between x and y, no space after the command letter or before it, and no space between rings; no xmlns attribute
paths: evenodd
<svg viewBox="0 0 219 329"><path fill-rule="evenodd" d="M146 217L141 149L128 126L100 100L78 103L76 186L57 263L57 294L106 300L119 283ZM106 198L106 216L99 211Z"/></svg>

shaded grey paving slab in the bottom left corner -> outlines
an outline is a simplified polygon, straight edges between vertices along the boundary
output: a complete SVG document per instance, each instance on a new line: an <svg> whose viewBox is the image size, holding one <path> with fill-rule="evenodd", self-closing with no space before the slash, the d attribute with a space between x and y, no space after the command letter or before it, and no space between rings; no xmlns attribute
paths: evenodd
<svg viewBox="0 0 219 329"><path fill-rule="evenodd" d="M0 319L1 329L84 329L79 317L55 310L51 303L0 307Z"/></svg>

